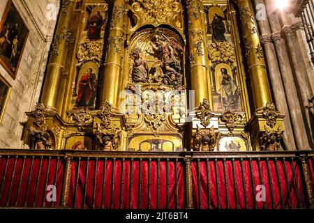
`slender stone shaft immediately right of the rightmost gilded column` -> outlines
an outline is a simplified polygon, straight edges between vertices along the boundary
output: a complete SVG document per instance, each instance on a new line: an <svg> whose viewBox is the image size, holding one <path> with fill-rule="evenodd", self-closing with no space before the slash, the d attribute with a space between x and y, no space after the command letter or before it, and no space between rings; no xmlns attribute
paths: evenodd
<svg viewBox="0 0 314 223"><path fill-rule="evenodd" d="M262 3L263 0L255 0L255 5ZM274 44L271 43L271 30L269 28L268 20L258 21L260 25L261 43L264 45L264 52L266 53L266 59L269 61L267 67L269 70L269 77L271 81L272 91L274 92L274 100L279 111L285 114L285 132L283 135L283 142L287 150L296 150L296 145L294 143L294 134L292 130L292 125L290 122L289 109L287 107L287 100L285 98L285 89L283 87L283 80L281 79L281 70L278 66L278 60L276 56L276 49Z"/></svg>

